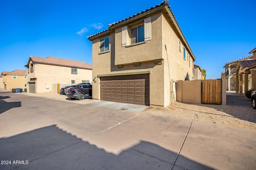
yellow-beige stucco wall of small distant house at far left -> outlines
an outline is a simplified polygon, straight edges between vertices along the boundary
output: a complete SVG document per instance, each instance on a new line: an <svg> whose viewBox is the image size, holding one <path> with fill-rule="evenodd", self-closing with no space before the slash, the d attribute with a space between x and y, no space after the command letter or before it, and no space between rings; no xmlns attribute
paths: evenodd
<svg viewBox="0 0 256 170"><path fill-rule="evenodd" d="M24 78L24 75L17 75L17 79L14 79L12 75L6 75L4 77L4 84L6 84L6 90L12 90L13 88L22 88L24 90L27 83L27 79Z"/></svg>

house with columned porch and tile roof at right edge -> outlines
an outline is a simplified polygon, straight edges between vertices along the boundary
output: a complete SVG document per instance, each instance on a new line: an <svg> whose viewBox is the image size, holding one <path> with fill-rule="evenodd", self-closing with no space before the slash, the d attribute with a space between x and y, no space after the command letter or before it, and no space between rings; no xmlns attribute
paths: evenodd
<svg viewBox="0 0 256 170"><path fill-rule="evenodd" d="M236 80L238 80L238 83L236 84L236 92L240 94L243 94L250 89L256 89L256 48L250 51L249 54L252 54L253 60L239 61L234 72ZM250 86L250 89L248 86Z"/></svg>

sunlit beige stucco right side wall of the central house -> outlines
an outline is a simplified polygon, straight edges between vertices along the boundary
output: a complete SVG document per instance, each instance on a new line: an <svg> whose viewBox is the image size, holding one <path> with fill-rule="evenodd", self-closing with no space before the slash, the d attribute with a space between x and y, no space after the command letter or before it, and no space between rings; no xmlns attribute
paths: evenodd
<svg viewBox="0 0 256 170"><path fill-rule="evenodd" d="M180 38L182 41L182 39ZM179 37L174 31L172 24L166 19L165 15L162 15L162 54L164 59L164 106L172 103L173 95L170 95L172 81L185 80L186 76L190 76L192 80L193 75L193 59L190 57L188 60L188 51L186 50L186 59L183 57L182 42L181 51L178 49ZM190 62L190 65L189 65ZM176 95L176 92L174 91Z"/></svg>

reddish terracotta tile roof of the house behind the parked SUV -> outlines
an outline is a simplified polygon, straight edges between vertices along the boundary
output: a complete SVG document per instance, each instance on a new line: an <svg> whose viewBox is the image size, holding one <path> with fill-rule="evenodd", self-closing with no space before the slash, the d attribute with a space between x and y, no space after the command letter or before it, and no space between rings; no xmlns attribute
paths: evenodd
<svg viewBox="0 0 256 170"><path fill-rule="evenodd" d="M62 59L58 57L35 57L30 56L30 59L34 63L42 63L42 64L50 64L50 65L58 65L58 66L68 66L68 67L74 67L74 68L83 68L92 70L92 65L82 62L82 61L75 61L70 59Z"/></svg>

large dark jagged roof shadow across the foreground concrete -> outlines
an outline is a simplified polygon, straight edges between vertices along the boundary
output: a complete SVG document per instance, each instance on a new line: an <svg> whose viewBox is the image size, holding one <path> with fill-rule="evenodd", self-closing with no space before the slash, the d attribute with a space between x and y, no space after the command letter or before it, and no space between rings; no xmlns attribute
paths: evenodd
<svg viewBox="0 0 256 170"><path fill-rule="evenodd" d="M92 136L92 138L99 138ZM89 139L90 140L90 139ZM105 140L99 138L98 140ZM108 148L98 148L88 141L77 138L62 129L51 125L28 131L8 138L0 139L0 159L9 160L10 164L0 164L1 170L22 169L168 169L174 162L168 162L154 155L141 152L138 148L147 148L151 153L161 152L175 159L177 153L164 149L154 143L140 141L133 147L124 147L111 143L112 149L121 148L118 154ZM107 151L106 151L107 150ZM181 155L180 155L181 156ZM184 166L175 165L173 169L210 169L207 166L182 156ZM193 169L193 168L192 168Z"/></svg>

